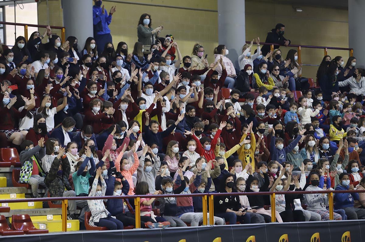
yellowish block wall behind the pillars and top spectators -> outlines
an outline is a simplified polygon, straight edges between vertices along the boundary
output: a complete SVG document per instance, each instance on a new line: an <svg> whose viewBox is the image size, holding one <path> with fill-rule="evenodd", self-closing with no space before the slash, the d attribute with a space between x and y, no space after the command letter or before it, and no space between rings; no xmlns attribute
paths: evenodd
<svg viewBox="0 0 365 242"><path fill-rule="evenodd" d="M111 6L116 5L117 12L113 15L110 24L115 45L119 41L124 41L128 44L130 52L132 51L133 45L137 41L139 17L142 13L147 12L152 16L153 27L164 25L161 36L166 34L174 36L183 56L191 55L193 45L199 42L204 46L205 53L208 54L208 61L214 60L213 49L218 45L217 0L123 0L123 3L104 0L103 4L107 11ZM174 6L190 9L179 9ZM50 24L62 25L61 0L49 0L49 8ZM346 9L310 6L301 8L303 12L297 13L291 4L246 0L246 40L259 36L264 42L266 33L276 23L283 23L286 27L285 37L291 39L292 44L348 47L348 12ZM46 20L46 1L42 1L38 4L38 22L45 24ZM281 49L283 49L285 57L289 47ZM319 64L323 52L323 49L303 48L302 62ZM331 57L341 55L344 59L349 56L347 51L329 50L328 53ZM317 68L304 66L303 76L315 77Z"/></svg>

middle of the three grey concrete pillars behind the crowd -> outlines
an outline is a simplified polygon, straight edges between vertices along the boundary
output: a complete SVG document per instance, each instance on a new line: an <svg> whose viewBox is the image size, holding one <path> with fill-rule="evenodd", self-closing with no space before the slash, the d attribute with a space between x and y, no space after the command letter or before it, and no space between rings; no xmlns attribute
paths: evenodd
<svg viewBox="0 0 365 242"><path fill-rule="evenodd" d="M245 0L218 0L218 42L226 45L227 57L237 69L245 41Z"/></svg>

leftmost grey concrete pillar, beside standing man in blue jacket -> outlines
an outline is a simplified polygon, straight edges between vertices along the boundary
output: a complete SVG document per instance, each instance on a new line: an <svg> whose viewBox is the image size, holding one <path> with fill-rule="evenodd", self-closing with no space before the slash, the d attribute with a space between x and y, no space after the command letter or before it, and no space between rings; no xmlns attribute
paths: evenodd
<svg viewBox="0 0 365 242"><path fill-rule="evenodd" d="M66 39L75 36L79 51L84 48L86 39L93 36L92 6L92 0L62 0Z"/></svg>

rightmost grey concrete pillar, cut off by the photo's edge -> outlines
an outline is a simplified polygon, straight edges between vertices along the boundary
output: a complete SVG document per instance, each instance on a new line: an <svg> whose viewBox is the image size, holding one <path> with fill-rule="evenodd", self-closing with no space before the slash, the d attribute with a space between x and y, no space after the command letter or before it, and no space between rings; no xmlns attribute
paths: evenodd
<svg viewBox="0 0 365 242"><path fill-rule="evenodd" d="M349 0L349 47L354 49L356 67L365 66L365 1ZM346 58L344 58L346 59Z"/></svg>

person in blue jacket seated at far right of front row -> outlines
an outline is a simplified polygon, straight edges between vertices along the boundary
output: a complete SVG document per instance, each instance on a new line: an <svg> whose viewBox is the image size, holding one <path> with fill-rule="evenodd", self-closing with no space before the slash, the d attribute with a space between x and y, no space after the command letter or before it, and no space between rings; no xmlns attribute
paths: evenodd
<svg viewBox="0 0 365 242"><path fill-rule="evenodd" d="M339 175L340 184L335 190L354 190L354 185L349 186L350 178L347 173L343 172ZM334 202L335 209L343 209L347 215L348 220L364 219L365 209L358 209L354 207L354 200L359 200L358 193L336 193Z"/></svg>

